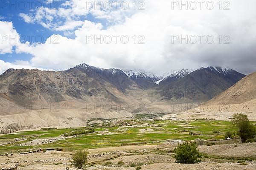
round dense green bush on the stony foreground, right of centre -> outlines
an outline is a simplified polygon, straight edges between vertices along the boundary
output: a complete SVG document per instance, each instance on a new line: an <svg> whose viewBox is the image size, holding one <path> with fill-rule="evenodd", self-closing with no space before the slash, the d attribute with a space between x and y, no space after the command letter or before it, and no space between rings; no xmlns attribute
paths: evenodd
<svg viewBox="0 0 256 170"><path fill-rule="evenodd" d="M174 153L176 163L195 164L201 161L201 154L195 142L179 144L179 146L174 149Z"/></svg>

